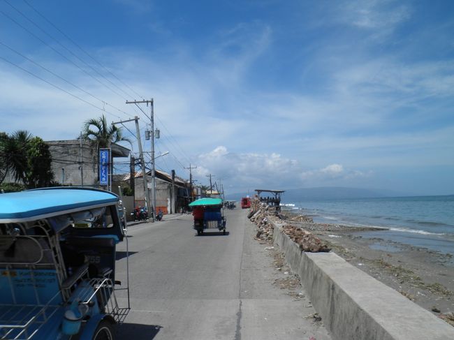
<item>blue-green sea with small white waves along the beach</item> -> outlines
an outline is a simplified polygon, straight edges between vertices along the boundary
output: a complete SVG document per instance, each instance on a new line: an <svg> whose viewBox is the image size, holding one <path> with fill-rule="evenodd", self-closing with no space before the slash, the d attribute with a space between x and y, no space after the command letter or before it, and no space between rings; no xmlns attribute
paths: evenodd
<svg viewBox="0 0 454 340"><path fill-rule="evenodd" d="M388 228L361 232L363 237L454 254L454 195L283 202L318 223Z"/></svg>

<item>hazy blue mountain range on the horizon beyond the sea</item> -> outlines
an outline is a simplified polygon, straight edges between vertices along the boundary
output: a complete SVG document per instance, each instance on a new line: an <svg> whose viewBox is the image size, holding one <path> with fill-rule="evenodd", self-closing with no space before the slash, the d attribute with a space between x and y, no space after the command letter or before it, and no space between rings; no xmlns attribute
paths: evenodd
<svg viewBox="0 0 454 340"><path fill-rule="evenodd" d="M255 191L249 193L254 195ZM240 200L247 193L233 193L226 195L226 200ZM341 186L319 187L319 188L300 188L288 189L282 196L282 202L298 202L300 200L335 200L342 198L379 198L402 196L402 193L395 193L384 190L345 188ZM268 193L262 193L268 196ZM271 194L269 194L271 196Z"/></svg>

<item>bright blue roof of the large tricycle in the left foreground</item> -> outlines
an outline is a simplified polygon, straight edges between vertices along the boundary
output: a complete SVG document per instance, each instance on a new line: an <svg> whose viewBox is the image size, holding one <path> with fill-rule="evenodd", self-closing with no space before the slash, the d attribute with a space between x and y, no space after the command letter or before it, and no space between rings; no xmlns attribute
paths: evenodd
<svg viewBox="0 0 454 340"><path fill-rule="evenodd" d="M0 223L32 221L112 205L115 193L79 188L56 187L3 193L0 195Z"/></svg>

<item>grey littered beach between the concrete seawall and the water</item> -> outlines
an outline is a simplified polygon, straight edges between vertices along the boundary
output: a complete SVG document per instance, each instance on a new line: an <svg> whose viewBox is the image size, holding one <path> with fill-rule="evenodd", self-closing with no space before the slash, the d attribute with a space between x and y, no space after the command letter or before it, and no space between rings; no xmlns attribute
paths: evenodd
<svg viewBox="0 0 454 340"><path fill-rule="evenodd" d="M445 320L453 315L453 254L369 236L389 228L316 223L309 216L295 213L283 209L281 215L289 225L312 232L351 265L434 315ZM369 235L363 237L362 232ZM454 326L454 318L446 321Z"/></svg>

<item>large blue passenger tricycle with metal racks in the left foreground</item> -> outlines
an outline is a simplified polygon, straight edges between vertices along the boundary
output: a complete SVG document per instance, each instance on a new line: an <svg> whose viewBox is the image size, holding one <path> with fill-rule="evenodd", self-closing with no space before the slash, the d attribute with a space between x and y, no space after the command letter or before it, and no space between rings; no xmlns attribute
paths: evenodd
<svg viewBox="0 0 454 340"><path fill-rule="evenodd" d="M115 339L130 309L129 284L128 306L115 295L118 201L74 187L0 194L0 339Z"/></svg>

